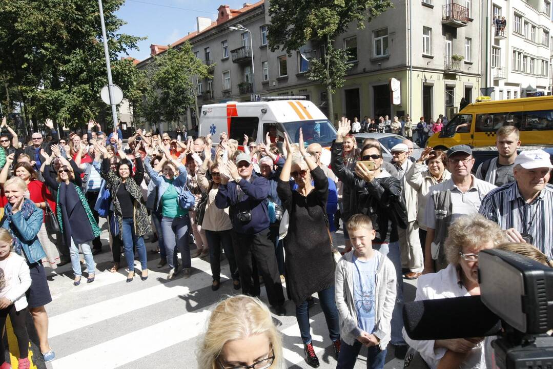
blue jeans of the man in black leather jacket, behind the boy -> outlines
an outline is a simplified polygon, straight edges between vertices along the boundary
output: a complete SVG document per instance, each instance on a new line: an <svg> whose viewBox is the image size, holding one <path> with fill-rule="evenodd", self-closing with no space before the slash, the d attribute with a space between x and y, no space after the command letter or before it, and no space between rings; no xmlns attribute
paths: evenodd
<svg viewBox="0 0 553 369"><path fill-rule="evenodd" d="M395 306L392 313L392 335L390 343L392 345L406 345L407 343L401 335L403 329L403 274L401 273L401 251L399 241L388 243L373 243L374 250L378 250L394 263L396 278Z"/></svg>

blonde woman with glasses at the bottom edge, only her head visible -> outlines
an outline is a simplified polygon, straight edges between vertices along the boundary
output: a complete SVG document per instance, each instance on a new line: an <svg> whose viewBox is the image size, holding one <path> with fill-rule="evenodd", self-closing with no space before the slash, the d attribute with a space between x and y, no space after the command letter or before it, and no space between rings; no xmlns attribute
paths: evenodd
<svg viewBox="0 0 553 369"><path fill-rule="evenodd" d="M269 309L259 299L237 295L220 302L211 313L197 350L198 367L284 367L282 338Z"/></svg>

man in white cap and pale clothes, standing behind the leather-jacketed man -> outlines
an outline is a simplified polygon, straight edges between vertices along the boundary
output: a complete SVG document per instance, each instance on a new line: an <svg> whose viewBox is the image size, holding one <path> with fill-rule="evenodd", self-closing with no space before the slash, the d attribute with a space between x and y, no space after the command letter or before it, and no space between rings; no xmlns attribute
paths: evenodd
<svg viewBox="0 0 553 369"><path fill-rule="evenodd" d="M424 257L420 245L419 224L416 219L418 194L405 179L405 173L413 165L413 162L409 160L409 146L404 143L398 143L392 147L392 160L395 168L398 170L401 192L405 198L407 209L407 228L398 227L401 266L404 269L409 269L409 272L405 274L406 279L417 279L424 269Z"/></svg>

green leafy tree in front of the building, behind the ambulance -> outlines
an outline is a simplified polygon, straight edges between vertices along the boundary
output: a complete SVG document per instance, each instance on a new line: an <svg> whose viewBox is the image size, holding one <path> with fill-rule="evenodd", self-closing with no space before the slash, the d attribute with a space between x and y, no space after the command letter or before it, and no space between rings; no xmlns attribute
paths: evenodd
<svg viewBox="0 0 553 369"><path fill-rule="evenodd" d="M299 50L311 40L324 46L325 53L320 59L312 58L307 78L319 81L326 87L328 113L332 120L334 108L332 94L343 86L347 63L347 50L335 48L338 35L352 22L357 28L364 28L364 22L392 7L390 0L271 0L268 25L271 51Z"/></svg>

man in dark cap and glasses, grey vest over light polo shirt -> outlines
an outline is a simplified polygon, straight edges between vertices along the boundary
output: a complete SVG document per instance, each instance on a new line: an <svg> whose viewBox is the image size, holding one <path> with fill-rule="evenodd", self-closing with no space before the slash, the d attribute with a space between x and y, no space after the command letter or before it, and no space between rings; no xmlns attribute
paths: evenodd
<svg viewBox="0 0 553 369"><path fill-rule="evenodd" d="M425 224L428 227L425 244L424 272L433 273L447 267L444 241L447 228L458 217L475 214L480 209L484 196L495 186L477 179L471 174L474 165L472 149L456 145L447 150L447 169L451 178L432 186L425 209Z"/></svg>

